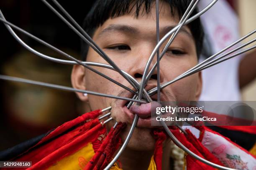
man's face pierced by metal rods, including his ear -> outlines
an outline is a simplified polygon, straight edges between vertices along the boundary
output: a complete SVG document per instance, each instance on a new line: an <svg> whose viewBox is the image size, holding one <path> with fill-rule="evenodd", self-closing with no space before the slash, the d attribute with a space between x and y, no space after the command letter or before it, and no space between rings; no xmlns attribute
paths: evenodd
<svg viewBox="0 0 256 170"><path fill-rule="evenodd" d="M139 15L138 18L131 15L123 15L106 22L95 30L93 40L96 44L118 65L118 67L141 82L143 71L151 52L156 46L156 13L155 6L152 6L150 14ZM160 38L179 23L179 18L173 18L170 14L169 4L160 3L159 30ZM177 16L177 15L176 15ZM164 43L164 45L166 42ZM163 50L161 46L160 51ZM99 62L108 64L92 48L87 53L88 62ZM156 62L156 57L151 67ZM195 42L190 30L185 26L179 32L174 42L160 62L160 83L173 80L189 68L197 64L197 53ZM150 69L151 69L150 67ZM105 75L113 78L121 84L132 88L118 72L102 67L94 67ZM72 84L76 88L101 92L122 97L133 97L131 92L115 85L113 82L85 70L82 66L74 66L72 72ZM156 87L156 70L146 85L146 90ZM133 89L133 88L132 88ZM197 100L201 91L200 74L194 74L179 80L161 90L163 101L190 101ZM94 95L83 96L77 94L83 101L89 101L92 110L103 109L111 106L111 116L118 122L126 122L127 128L123 133L123 140L131 127L134 114L125 106L126 101L113 98L99 97ZM152 97L156 100L156 95ZM137 127L132 135L128 147L136 150L154 149L154 138L151 135L152 127L148 124L149 118L139 118ZM108 128L113 126L115 121L107 124Z"/></svg>

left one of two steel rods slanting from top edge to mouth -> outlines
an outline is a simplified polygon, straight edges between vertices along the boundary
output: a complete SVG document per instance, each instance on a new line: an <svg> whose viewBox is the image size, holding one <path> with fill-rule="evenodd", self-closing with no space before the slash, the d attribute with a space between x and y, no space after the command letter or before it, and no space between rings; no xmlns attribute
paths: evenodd
<svg viewBox="0 0 256 170"><path fill-rule="evenodd" d="M136 90L138 90L138 88L136 87L136 85L133 84L133 82L125 75L123 74L123 72L121 71L121 69L115 64L115 62L113 62L110 57L108 57L108 55L105 54L105 52L103 52L100 47L98 47L95 42L93 42L93 40L91 39L91 41L94 43L94 45L92 45L90 43L89 40L87 40L87 38L84 37L84 35L82 35L76 28L74 28L74 26L72 24L70 24L54 7L52 7L46 0L41 0L42 2L44 2L44 4L49 7L49 9L51 11L53 11L64 23L66 23L69 28L71 28L77 35L79 35L80 38L82 38L82 40L84 40L87 44L89 44L93 50L95 50L104 60L106 60L110 65L112 65L115 70L117 72L119 72L120 75L122 75ZM90 37L90 36L89 36Z"/></svg>

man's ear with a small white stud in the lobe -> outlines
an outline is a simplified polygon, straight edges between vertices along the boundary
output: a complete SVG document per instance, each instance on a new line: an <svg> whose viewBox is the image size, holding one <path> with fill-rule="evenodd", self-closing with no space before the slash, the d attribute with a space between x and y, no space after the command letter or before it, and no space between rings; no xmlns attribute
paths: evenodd
<svg viewBox="0 0 256 170"><path fill-rule="evenodd" d="M85 70L82 65L74 65L71 73L72 86L76 89L86 90L85 85ZM76 92L77 97L83 102L88 101L88 95L82 92Z"/></svg>

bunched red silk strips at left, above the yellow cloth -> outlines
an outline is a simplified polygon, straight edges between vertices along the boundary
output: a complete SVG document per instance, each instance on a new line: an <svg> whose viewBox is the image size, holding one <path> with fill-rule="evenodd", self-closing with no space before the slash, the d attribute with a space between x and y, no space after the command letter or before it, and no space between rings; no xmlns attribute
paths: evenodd
<svg viewBox="0 0 256 170"><path fill-rule="evenodd" d="M96 131L104 133L105 128L102 128L99 120L95 119L100 114L100 110L95 110L64 123L42 138L35 146L13 160L30 160L33 165L31 169L42 169L43 167L51 166L57 160L74 153L76 150L86 145L88 141L97 138L96 135L99 132L95 133ZM94 120L88 121L91 119ZM85 134L88 135L88 137ZM71 145L75 143L76 146ZM67 147L69 147L69 149ZM60 153L63 155L60 155Z"/></svg>

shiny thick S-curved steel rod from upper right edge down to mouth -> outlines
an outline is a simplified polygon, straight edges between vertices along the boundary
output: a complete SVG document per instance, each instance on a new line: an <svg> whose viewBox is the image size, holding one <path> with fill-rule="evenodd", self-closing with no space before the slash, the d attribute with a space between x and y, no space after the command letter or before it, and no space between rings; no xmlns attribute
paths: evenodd
<svg viewBox="0 0 256 170"><path fill-rule="evenodd" d="M203 13L205 13L208 9L210 9L210 7L212 7L212 5L214 5L218 0L212 0L212 2L207 5L203 10L201 10L199 13L197 13L196 15L194 15L193 17L189 18L185 24L188 24L190 22L192 22L193 20L195 20L196 18L198 18L200 15L202 15ZM178 28L179 28L180 24L177 25L176 27L174 27L172 30L170 30L166 35L164 35L164 37L159 41L159 43L156 45L156 47L154 48L153 52L151 53L149 59L148 59L148 62L146 64L146 67L145 67L145 70L143 72L143 76L142 76L142 79L141 79L141 87L144 88L144 85L145 85L145 79L146 79L146 74L148 72L148 68L154 58L154 55L156 54L157 50L159 50L159 47L164 43L164 41L170 36L172 35L172 33L174 33L174 31L176 31ZM142 91L142 88L140 88L139 90L139 94L140 92ZM139 98L140 99L140 96Z"/></svg>

